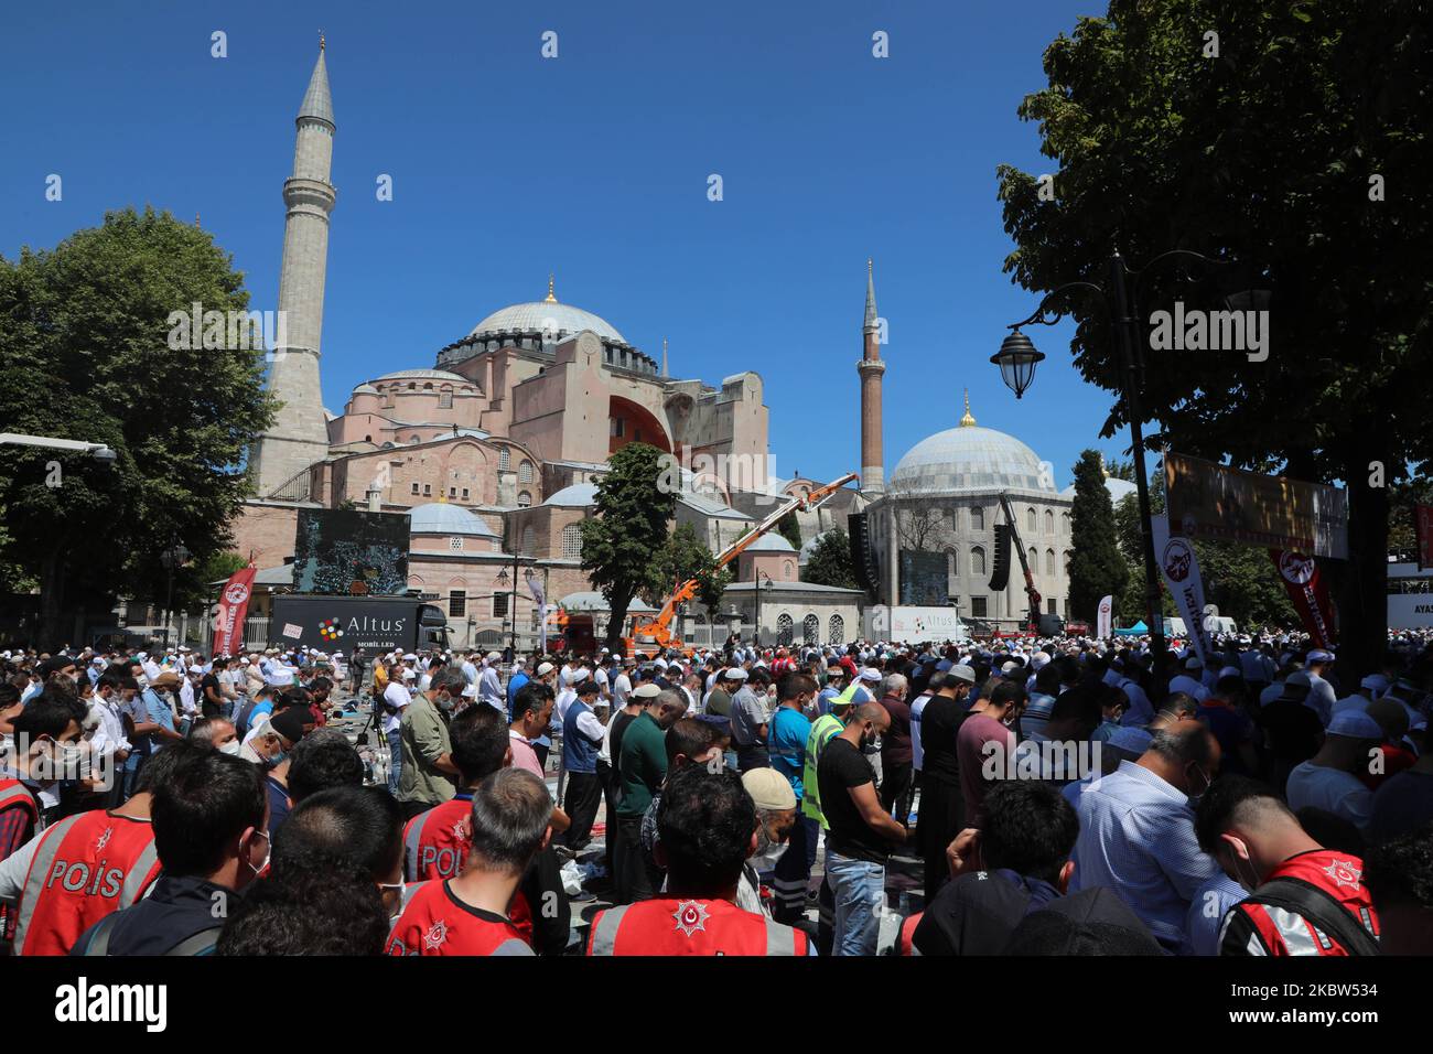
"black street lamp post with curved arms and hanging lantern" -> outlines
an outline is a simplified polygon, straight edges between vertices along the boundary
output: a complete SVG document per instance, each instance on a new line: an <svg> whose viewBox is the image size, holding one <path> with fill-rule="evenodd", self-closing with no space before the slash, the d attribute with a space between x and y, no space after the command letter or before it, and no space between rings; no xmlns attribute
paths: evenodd
<svg viewBox="0 0 1433 1054"><path fill-rule="evenodd" d="M1000 376L1006 386L1015 391L1015 397L1019 399L1035 381L1036 364L1045 359L1043 354L1035 350L1035 344L1030 338L1020 333L1020 327L1035 324L1053 326L1058 323L1066 313L1053 311L1048 314L1050 301L1075 290L1093 293L1105 305L1109 324L1115 330L1115 341L1119 353L1119 387L1125 400L1125 410L1129 417L1129 439L1134 447L1132 452L1135 460L1135 489L1139 495L1139 532L1142 535L1141 541L1145 562L1145 612L1152 637L1155 663L1159 665L1164 664L1164 655L1168 645L1165 642L1164 619L1161 617L1159 571L1158 564L1155 564L1155 538L1154 528L1151 526L1152 516L1149 511L1149 483L1145 479L1144 413L1139 406L1138 377L1138 373L1144 370L1144 363L1139 356L1138 344L1135 343L1135 337L1139 331L1139 323L1135 317L1135 300L1139 295L1139 281L1148 275L1156 264L1166 260L1179 260L1181 262L1197 264L1201 267L1230 267L1234 262L1209 260L1204 254L1192 252L1189 250L1171 250L1169 252L1161 252L1142 270L1135 271L1126 267L1125 258L1119 255L1118 250L1115 250L1109 258L1108 287L1101 287L1095 283L1076 281L1066 283L1065 285L1052 290L1043 300L1040 300L1039 307L1035 308L1035 313L1030 314L1029 318L1007 327L1010 334L1002 341L1000 350L990 356L990 361L1000 367ZM1135 287L1134 295L1131 295L1129 290L1131 278L1134 280ZM1156 681L1159 681L1159 678L1156 678Z"/></svg>

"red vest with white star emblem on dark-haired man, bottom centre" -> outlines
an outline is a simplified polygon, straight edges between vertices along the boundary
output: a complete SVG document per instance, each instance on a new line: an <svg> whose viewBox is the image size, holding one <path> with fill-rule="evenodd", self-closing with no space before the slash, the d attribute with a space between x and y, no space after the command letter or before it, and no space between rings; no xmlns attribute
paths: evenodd
<svg viewBox="0 0 1433 1054"><path fill-rule="evenodd" d="M641 901L599 911L588 955L807 955L807 936L731 901Z"/></svg>

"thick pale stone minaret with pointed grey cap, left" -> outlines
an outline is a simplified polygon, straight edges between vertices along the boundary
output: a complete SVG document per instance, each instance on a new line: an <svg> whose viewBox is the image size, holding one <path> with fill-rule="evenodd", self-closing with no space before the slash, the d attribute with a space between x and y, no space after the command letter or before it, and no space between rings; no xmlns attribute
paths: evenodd
<svg viewBox="0 0 1433 1054"><path fill-rule="evenodd" d="M269 391L284 406L252 455L258 496L267 498L299 470L328 456L328 424L318 384L328 271L328 214L338 192L328 181L334 153L334 103L324 39L298 108L294 175L284 181L284 264L278 280L281 347L269 366Z"/></svg>

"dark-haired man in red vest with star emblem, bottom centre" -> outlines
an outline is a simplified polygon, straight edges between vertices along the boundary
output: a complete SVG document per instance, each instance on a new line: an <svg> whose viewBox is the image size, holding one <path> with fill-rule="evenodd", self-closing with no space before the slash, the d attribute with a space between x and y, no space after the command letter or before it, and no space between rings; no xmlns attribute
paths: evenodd
<svg viewBox="0 0 1433 1054"><path fill-rule="evenodd" d="M731 770L678 769L662 792L658 862L666 891L598 912L588 955L813 955L807 935L737 906L757 850L757 806Z"/></svg>

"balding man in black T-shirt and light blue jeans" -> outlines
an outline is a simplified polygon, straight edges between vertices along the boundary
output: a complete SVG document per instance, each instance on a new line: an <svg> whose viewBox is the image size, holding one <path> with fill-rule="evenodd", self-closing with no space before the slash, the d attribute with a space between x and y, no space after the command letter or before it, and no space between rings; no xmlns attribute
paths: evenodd
<svg viewBox="0 0 1433 1054"><path fill-rule="evenodd" d="M906 840L906 825L881 809L876 770L861 753L890 727L890 714L863 703L821 751L817 784L830 830L825 875L835 895L837 955L874 955L886 899L886 860L891 842Z"/></svg>

